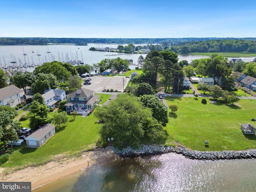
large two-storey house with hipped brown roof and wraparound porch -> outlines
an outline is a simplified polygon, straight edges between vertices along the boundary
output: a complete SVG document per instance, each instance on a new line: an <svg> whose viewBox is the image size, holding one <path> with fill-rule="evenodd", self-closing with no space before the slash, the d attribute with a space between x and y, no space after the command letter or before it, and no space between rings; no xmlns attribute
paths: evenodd
<svg viewBox="0 0 256 192"><path fill-rule="evenodd" d="M87 116L92 108L99 102L98 98L100 95L94 95L94 91L79 88L78 90L70 93L68 95L69 102L65 104L66 111L70 112L77 112L82 116Z"/></svg>

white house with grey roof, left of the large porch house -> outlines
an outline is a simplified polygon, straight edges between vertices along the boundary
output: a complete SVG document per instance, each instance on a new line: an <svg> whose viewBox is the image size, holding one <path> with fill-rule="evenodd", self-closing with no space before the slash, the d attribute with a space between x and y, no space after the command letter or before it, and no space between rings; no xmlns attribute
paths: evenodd
<svg viewBox="0 0 256 192"><path fill-rule="evenodd" d="M42 96L48 108L55 108L58 101L66 100L66 92L63 89L50 89Z"/></svg>

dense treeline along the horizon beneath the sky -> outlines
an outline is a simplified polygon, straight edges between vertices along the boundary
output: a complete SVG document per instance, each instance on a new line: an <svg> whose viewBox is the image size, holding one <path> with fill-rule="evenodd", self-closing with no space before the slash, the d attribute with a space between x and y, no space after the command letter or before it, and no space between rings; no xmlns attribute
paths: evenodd
<svg viewBox="0 0 256 192"><path fill-rule="evenodd" d="M0 38L0 45L47 44L148 44L150 50L170 50L178 54L194 52L256 53L256 38Z"/></svg>

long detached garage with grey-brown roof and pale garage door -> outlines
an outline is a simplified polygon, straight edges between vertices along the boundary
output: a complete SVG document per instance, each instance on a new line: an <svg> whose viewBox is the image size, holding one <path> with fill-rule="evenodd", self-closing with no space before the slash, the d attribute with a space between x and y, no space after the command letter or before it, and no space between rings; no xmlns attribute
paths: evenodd
<svg viewBox="0 0 256 192"><path fill-rule="evenodd" d="M55 134L55 126L48 123L26 137L26 147L38 148Z"/></svg>

